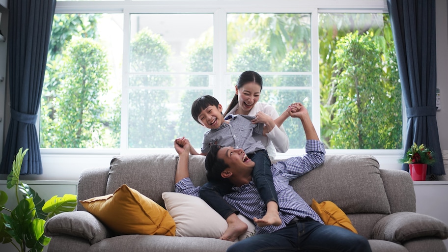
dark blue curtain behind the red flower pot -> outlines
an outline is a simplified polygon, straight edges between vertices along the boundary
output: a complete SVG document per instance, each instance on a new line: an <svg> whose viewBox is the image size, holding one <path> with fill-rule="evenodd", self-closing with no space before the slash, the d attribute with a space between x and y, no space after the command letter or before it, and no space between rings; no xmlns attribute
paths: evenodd
<svg viewBox="0 0 448 252"><path fill-rule="evenodd" d="M427 145L437 160L427 174L443 175L436 120L435 0L387 0L387 4L408 118L404 148L407 151L414 142Z"/></svg>

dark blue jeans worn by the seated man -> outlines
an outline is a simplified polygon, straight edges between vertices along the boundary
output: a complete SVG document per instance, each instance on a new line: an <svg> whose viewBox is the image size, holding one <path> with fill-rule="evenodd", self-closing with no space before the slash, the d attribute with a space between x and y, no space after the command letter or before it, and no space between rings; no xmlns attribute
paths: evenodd
<svg viewBox="0 0 448 252"><path fill-rule="evenodd" d="M272 232L239 241L227 252L371 252L363 236L343 227L320 224L310 218Z"/></svg>

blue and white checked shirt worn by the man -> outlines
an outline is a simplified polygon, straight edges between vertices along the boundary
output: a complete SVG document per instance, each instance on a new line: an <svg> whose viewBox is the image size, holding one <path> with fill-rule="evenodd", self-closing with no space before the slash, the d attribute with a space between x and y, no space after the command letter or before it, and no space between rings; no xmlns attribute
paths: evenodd
<svg viewBox="0 0 448 252"><path fill-rule="evenodd" d="M325 160L325 148L321 141L307 140L305 147L307 154L302 157L291 157L279 161L271 166L274 185L279 197L280 226L256 226L257 234L272 233L283 228L294 217L310 217L323 224L319 215L299 196L289 185L289 181L306 174L319 167ZM195 187L190 178L184 178L176 184L176 192L199 196L200 187ZM233 193L224 196L224 199L240 213L249 219L261 219L266 214L266 206L260 197L253 181L242 187L233 187Z"/></svg>

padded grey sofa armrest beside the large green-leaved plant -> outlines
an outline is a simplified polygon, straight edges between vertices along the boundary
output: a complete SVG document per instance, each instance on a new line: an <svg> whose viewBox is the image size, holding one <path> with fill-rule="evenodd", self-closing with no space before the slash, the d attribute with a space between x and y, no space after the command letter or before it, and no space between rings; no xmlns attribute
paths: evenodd
<svg viewBox="0 0 448 252"><path fill-rule="evenodd" d="M45 235L71 235L84 238L90 245L112 236L112 232L86 211L60 213L45 223Z"/></svg>

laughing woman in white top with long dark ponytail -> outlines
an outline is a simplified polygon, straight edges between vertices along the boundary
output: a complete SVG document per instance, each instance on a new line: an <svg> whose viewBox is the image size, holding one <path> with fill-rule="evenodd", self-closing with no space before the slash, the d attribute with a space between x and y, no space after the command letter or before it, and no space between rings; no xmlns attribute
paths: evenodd
<svg viewBox="0 0 448 252"><path fill-rule="evenodd" d="M263 79L254 71L243 72L238 77L238 83L235 85L235 96L230 102L224 117L229 114L246 114L257 116L253 120L254 123L264 123L272 125L272 130L265 136L254 136L254 139L261 141L268 151L269 158L275 159L276 153L284 153L289 149L289 139L286 132L281 126L277 127L274 119L279 117L279 113L275 108L266 103L259 103L261 89L263 88ZM258 113L263 112L263 113ZM266 116L269 115L269 116Z"/></svg>

